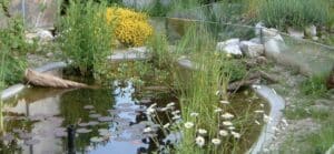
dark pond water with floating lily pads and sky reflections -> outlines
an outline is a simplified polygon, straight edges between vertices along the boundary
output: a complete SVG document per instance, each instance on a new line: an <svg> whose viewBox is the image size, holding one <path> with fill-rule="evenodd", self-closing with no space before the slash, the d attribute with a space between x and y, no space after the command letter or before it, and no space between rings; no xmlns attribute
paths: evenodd
<svg viewBox="0 0 334 154"><path fill-rule="evenodd" d="M263 101L248 91L235 94L234 113L246 112ZM4 102L1 153L60 154L68 151L67 126L76 126L76 152L168 153L180 138L178 132L164 132L171 111L161 109L177 99L169 91L136 90L130 81L115 81L111 89L59 90L30 88ZM146 110L157 103L159 122L150 120ZM160 111L161 110L161 111ZM176 122L176 121L174 121ZM248 129L243 144L247 150L257 138L259 125ZM157 146L156 142L159 143Z"/></svg>

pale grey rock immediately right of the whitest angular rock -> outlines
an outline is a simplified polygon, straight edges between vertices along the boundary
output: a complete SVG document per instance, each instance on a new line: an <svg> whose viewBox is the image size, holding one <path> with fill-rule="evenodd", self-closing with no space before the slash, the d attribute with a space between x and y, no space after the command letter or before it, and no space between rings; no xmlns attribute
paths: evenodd
<svg viewBox="0 0 334 154"><path fill-rule="evenodd" d="M242 41L240 49L243 53L249 58L257 58L264 54L264 45L250 41Z"/></svg>

